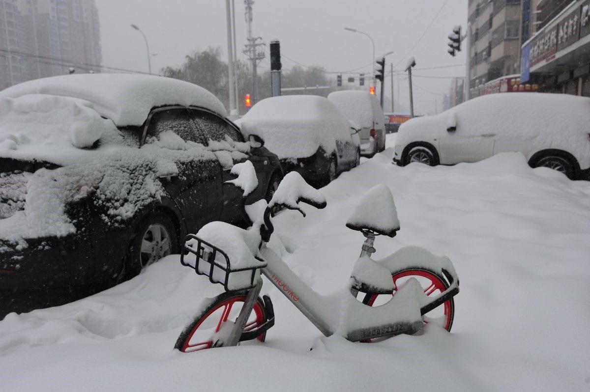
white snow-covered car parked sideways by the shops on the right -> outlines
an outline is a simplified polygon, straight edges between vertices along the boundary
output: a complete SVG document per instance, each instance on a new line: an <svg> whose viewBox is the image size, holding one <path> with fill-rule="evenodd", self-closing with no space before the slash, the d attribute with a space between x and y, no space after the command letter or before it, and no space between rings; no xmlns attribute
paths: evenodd
<svg viewBox="0 0 590 392"><path fill-rule="evenodd" d="M590 175L590 98L566 94L502 93L474 98L436 116L399 127L394 163L477 162L518 151L531 167L570 179Z"/></svg>

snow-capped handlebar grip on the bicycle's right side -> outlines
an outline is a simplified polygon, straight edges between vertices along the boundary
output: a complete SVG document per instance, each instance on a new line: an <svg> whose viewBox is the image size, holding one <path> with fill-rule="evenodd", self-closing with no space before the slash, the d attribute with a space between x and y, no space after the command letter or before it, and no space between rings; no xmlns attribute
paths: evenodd
<svg viewBox="0 0 590 392"><path fill-rule="evenodd" d="M319 190L306 183L301 174L290 172L281 180L273 198L268 202L268 207L283 205L292 210L299 210L305 216L305 213L299 208L299 201L316 208L326 206L326 198Z"/></svg>

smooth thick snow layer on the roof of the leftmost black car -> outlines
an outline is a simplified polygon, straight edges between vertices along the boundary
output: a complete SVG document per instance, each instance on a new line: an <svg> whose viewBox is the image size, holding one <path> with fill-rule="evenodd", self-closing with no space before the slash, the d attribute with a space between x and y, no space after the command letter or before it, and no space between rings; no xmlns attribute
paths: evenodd
<svg viewBox="0 0 590 392"><path fill-rule="evenodd" d="M27 81L0 91L2 97L60 95L89 101L116 126L140 126L153 107L200 106L227 116L215 95L196 84L156 75L79 74Z"/></svg>

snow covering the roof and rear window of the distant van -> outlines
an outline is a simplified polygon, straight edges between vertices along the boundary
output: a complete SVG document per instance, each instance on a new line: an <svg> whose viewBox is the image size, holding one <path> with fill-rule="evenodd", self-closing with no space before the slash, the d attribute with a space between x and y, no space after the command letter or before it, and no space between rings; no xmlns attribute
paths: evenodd
<svg viewBox="0 0 590 392"><path fill-rule="evenodd" d="M383 113L373 113L375 106L371 100L377 100L375 95L367 91L345 90L334 91L328 95L342 113L360 127L372 127L373 120L384 122ZM379 105L379 103L377 103Z"/></svg>

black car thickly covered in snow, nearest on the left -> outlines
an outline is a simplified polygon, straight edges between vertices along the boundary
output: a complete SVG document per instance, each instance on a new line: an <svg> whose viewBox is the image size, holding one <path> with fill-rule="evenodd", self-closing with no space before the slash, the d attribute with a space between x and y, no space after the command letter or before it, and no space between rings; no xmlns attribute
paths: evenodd
<svg viewBox="0 0 590 392"><path fill-rule="evenodd" d="M0 91L0 288L108 287L180 251L186 233L240 220L236 163L270 197L276 154L223 104L171 78L84 74ZM6 298L3 298L6 300Z"/></svg>

